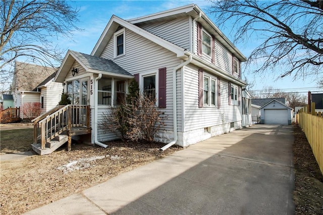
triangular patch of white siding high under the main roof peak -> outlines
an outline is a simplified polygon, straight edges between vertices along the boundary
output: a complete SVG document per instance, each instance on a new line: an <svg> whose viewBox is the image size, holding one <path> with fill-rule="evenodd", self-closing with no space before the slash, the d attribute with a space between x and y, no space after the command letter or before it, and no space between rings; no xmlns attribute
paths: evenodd
<svg viewBox="0 0 323 215"><path fill-rule="evenodd" d="M139 27L182 48L190 50L188 17L139 25Z"/></svg>

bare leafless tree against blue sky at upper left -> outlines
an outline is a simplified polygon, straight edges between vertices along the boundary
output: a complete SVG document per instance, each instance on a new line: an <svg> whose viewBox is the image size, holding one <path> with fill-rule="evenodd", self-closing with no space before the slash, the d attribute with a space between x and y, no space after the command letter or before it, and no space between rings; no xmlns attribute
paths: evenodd
<svg viewBox="0 0 323 215"><path fill-rule="evenodd" d="M78 10L68 1L0 1L0 74L12 75L10 65L20 57L42 66L58 66L65 50L52 38L68 37L76 27Z"/></svg>

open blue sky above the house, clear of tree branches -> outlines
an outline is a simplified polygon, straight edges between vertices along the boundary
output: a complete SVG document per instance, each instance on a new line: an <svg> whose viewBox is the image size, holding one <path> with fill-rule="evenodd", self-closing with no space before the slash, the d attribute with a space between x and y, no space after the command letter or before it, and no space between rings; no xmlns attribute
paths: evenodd
<svg viewBox="0 0 323 215"><path fill-rule="evenodd" d="M78 26L84 31L75 32L73 40L61 38L58 42L61 47L72 49L83 53L91 53L95 43L103 32L107 22L109 22L112 15L116 15L122 19L131 19L140 17L156 12L169 10L172 8L196 4L205 13L207 8L211 5L208 1L76 1L70 3L73 7L77 7L79 11L80 23ZM212 15L207 14L208 17L213 20ZM223 33L232 41L233 38L230 35L230 26L227 29L221 29ZM240 51L248 57L253 47L255 47L254 41L251 40L247 44L235 44ZM278 70L279 72L279 70ZM283 79L277 79L279 74L265 74L265 75L253 75L248 74L245 71L245 76L248 80L254 81L255 86L253 89L262 89L263 86L273 86L274 89L291 89L291 88L305 88L316 87L315 77L307 77L305 80L300 78L294 80L293 77L285 77ZM311 89L314 91L314 89ZM315 89L317 90L317 89ZM323 90L323 89L321 89ZM285 90L293 91L293 90ZM307 89L299 89L294 91L307 91Z"/></svg>

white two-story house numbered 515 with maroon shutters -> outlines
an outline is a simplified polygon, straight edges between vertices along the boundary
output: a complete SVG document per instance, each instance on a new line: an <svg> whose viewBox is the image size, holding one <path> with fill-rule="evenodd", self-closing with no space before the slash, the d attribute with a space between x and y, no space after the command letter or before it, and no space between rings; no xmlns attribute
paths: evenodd
<svg viewBox="0 0 323 215"><path fill-rule="evenodd" d="M67 52L55 81L65 83L73 104L90 105L92 143L117 138L98 124L135 79L165 117L156 140L187 146L242 127L245 61L192 4L131 20L112 16L91 55Z"/></svg>

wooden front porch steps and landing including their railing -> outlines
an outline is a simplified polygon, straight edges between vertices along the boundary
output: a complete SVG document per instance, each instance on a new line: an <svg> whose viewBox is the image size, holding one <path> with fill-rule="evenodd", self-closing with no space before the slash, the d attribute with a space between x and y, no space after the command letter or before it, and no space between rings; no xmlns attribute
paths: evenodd
<svg viewBox="0 0 323 215"><path fill-rule="evenodd" d="M34 140L32 149L40 155L50 154L68 142L71 150L72 136L90 134L89 105L58 105L32 120Z"/></svg>

